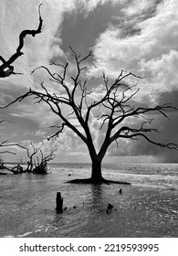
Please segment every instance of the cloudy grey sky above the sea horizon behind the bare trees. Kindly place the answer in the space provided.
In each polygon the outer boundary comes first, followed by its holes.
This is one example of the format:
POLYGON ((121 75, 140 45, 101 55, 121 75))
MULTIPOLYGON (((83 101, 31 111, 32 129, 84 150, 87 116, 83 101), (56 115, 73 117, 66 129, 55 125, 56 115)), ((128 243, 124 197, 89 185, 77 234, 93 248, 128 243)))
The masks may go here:
MULTIPOLYGON (((33 75, 31 72, 41 65, 51 69, 49 62, 52 60, 70 60, 68 46, 82 56, 89 50, 93 52, 86 74, 90 90, 102 91, 103 72, 113 80, 123 69, 145 78, 139 81, 138 104, 155 106, 167 102, 178 106, 177 0, 1 0, 0 55, 5 59, 15 53, 22 30, 37 29, 37 7, 41 3, 42 33, 26 37, 24 55, 14 62, 15 71, 23 75, 0 79, 1 106, 30 87, 39 89, 41 81, 49 90, 56 90, 45 70, 33 75)), ((178 143, 178 112, 170 112, 169 117, 170 120, 158 113, 153 115, 152 125, 159 128, 160 133, 152 133, 152 139, 178 143)), ((0 120, 6 121, 0 123, 1 141, 26 146, 30 141, 38 145, 43 142, 45 152, 55 146, 55 162, 89 161, 86 145, 68 129, 58 140, 47 141, 52 133, 49 126, 60 121, 44 104, 34 104, 32 99, 17 102, 0 110, 0 120)), ((105 131, 99 129, 94 114, 90 129, 99 147, 105 131)), ((20 148, 13 150, 16 156, 3 157, 16 160, 24 154, 20 148)), ((143 139, 134 143, 120 139, 118 147, 110 145, 106 159, 178 162, 177 156, 176 151, 162 149, 143 139)))

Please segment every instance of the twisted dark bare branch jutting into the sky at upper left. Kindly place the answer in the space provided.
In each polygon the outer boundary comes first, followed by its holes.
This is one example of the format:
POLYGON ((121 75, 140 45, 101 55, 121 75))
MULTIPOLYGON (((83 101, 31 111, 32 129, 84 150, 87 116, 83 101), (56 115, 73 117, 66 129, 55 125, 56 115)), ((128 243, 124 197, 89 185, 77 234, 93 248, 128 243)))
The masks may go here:
MULTIPOLYGON (((41 4, 42 5, 42 4, 41 4)), ((41 28, 42 28, 42 23, 43 20, 40 15, 40 6, 38 6, 38 12, 39 12, 39 25, 36 30, 30 30, 26 29, 23 30, 20 35, 19 35, 19 44, 18 47, 16 48, 16 53, 13 54, 8 60, 5 60, 2 56, 0 56, 0 60, 3 63, 0 66, 0 78, 6 78, 9 77, 10 75, 16 75, 16 74, 21 74, 21 73, 16 73, 14 71, 14 66, 12 65, 16 59, 18 59, 20 56, 22 56, 24 53, 22 52, 22 48, 24 47, 24 40, 26 35, 31 35, 32 37, 35 37, 37 34, 41 33, 41 28)))

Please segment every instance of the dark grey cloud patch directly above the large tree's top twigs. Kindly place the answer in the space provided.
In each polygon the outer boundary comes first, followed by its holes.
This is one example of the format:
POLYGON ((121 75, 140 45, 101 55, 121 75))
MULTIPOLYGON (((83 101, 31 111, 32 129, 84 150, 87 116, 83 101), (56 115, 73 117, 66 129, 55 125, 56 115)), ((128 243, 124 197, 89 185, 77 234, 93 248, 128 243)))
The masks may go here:
POLYGON ((71 46, 79 54, 86 54, 89 48, 95 45, 99 34, 104 32, 109 24, 114 22, 114 16, 120 16, 120 4, 98 5, 86 15, 85 11, 78 10, 66 14, 61 30, 62 49, 67 52, 71 46))

